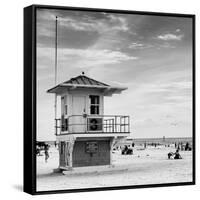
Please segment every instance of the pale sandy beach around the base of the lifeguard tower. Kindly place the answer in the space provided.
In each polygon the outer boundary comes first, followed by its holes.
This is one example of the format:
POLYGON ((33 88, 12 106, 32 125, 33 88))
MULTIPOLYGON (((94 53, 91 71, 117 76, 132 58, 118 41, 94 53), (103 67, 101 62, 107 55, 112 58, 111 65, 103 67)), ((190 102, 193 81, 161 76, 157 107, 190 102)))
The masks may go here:
POLYGON ((114 167, 106 172, 97 168, 81 173, 79 169, 80 173, 63 175, 53 173, 59 158, 58 150, 51 147, 47 163, 44 156, 37 156, 37 191, 191 182, 192 151, 180 151, 181 160, 168 160, 170 151, 175 152, 175 148, 164 145, 146 149, 137 146, 133 155, 113 151, 114 167))

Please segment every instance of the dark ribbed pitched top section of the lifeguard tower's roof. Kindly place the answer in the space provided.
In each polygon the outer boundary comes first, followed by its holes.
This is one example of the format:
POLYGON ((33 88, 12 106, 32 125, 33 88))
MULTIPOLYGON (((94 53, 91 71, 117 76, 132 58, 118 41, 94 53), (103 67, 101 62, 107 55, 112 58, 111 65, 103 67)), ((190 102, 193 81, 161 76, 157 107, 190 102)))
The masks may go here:
POLYGON ((64 84, 74 84, 74 85, 99 85, 99 86, 109 86, 100 81, 96 81, 92 78, 89 78, 85 75, 80 75, 74 78, 71 78, 68 81, 65 81, 64 84))

